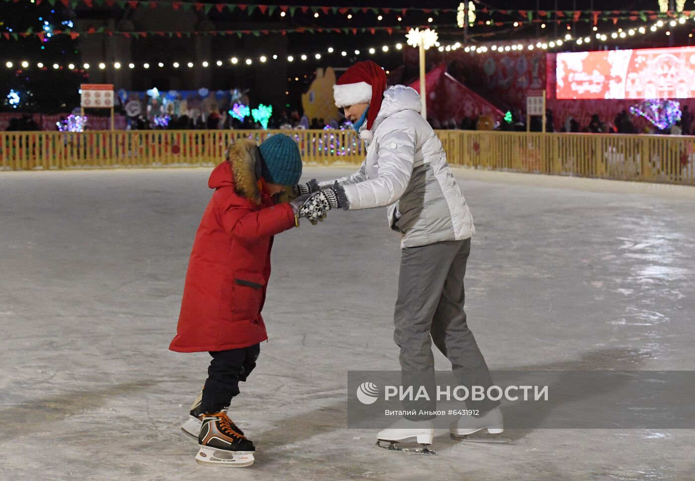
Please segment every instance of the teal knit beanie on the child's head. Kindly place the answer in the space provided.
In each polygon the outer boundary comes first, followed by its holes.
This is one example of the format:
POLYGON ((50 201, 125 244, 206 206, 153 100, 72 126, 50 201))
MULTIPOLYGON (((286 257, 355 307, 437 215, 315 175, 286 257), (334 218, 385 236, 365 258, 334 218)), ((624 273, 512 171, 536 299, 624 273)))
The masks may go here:
POLYGON ((302 157, 297 143, 285 134, 275 134, 259 145, 265 182, 295 185, 302 177, 302 157))

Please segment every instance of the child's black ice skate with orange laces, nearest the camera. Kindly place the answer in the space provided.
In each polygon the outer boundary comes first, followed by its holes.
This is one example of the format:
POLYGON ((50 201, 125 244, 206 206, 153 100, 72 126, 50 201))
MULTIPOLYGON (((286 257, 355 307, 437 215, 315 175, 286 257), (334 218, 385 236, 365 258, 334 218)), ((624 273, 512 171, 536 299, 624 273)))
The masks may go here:
POLYGON ((227 413, 206 414, 198 435, 198 454, 201 464, 243 468, 254 464, 254 443, 227 417, 227 413))

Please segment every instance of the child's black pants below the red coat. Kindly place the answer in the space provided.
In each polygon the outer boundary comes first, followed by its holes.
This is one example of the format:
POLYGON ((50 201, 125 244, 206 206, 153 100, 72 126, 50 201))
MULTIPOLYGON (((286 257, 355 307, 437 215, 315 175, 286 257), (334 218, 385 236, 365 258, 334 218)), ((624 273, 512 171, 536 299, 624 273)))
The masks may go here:
POLYGON ((208 368, 208 379, 205 381, 200 405, 204 413, 217 413, 229 407, 231 398, 239 393, 239 381, 246 381, 254 370, 260 352, 260 344, 210 352, 213 359, 208 368))

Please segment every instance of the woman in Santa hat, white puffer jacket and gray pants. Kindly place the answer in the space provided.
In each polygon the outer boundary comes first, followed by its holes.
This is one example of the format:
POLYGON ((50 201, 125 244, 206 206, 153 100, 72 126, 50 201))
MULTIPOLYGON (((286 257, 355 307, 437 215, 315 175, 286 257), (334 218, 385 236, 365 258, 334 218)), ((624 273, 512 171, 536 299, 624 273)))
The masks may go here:
MULTIPOLYGON (((386 89, 383 69, 366 61, 352 65, 341 76, 334 97, 365 141, 367 156, 349 177, 297 186, 297 194, 309 194, 300 216, 316 221, 331 208, 389 205, 389 225, 402 235, 394 340, 400 347, 404 384, 425 385, 434 402, 431 337, 451 361, 459 384, 486 389, 491 377, 464 311, 473 218, 441 142, 419 114, 420 95, 402 85, 386 89)), ((435 410, 431 403, 415 404, 405 408, 435 410)), ((450 426, 451 432, 501 432, 499 404, 466 402, 480 416, 459 419, 450 426)), ((399 441, 415 436, 419 443, 430 444, 433 418, 408 416, 379 432, 378 438, 399 441)))

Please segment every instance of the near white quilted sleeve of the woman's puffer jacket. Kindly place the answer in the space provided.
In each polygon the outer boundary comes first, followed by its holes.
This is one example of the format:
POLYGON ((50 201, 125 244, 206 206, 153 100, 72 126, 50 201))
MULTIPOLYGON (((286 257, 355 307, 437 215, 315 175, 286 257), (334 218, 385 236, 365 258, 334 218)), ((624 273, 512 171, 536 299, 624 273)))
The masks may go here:
POLYGON ((393 204, 410 183, 415 161, 415 129, 410 123, 386 122, 380 126, 387 130, 379 133, 377 177, 344 186, 350 210, 393 204))

